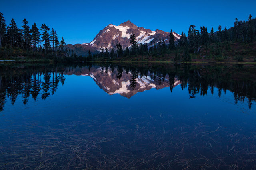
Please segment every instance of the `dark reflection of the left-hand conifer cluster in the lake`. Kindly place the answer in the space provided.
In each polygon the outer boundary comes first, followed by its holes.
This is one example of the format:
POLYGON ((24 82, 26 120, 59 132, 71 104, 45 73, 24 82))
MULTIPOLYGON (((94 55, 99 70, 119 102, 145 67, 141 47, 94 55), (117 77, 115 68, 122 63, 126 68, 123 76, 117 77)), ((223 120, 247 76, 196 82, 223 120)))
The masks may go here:
MULTIPOLYGON (((15 103, 18 95, 21 95, 23 104, 28 102, 28 98, 31 95, 34 100, 38 97, 40 90, 42 89, 42 98, 47 98, 50 93, 48 92, 51 88, 54 92, 58 87, 58 83, 62 85, 65 82, 65 77, 60 74, 55 68, 55 72, 52 73, 53 80, 51 78, 51 69, 47 68, 8 68, 0 72, 0 111, 3 110, 6 98, 8 97, 12 104, 15 103), (44 70, 44 76, 41 82, 41 70, 44 70)), ((63 69, 63 68, 61 68, 63 69)), ((63 72, 63 70, 62 70, 63 72)))

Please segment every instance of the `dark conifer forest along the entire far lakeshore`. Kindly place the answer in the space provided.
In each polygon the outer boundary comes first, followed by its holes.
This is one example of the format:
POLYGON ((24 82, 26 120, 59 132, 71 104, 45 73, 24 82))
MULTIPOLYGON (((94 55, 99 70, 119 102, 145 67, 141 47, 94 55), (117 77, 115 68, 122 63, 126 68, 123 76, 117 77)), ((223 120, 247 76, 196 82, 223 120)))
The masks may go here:
POLYGON ((53 61, 256 61, 256 19, 251 14, 248 21, 234 20, 234 27, 227 29, 218 26, 215 32, 204 26, 197 29, 189 25, 188 34, 182 32, 178 41, 174 41, 172 30, 169 43, 159 39, 148 45, 138 44, 134 33, 130 35, 131 46, 116 44, 115 49, 101 48, 94 55, 90 51, 78 56, 66 48, 64 38, 58 37, 54 28, 42 23, 22 21, 18 28, 14 19, 7 25, 0 12, 0 59, 53 60, 53 61))

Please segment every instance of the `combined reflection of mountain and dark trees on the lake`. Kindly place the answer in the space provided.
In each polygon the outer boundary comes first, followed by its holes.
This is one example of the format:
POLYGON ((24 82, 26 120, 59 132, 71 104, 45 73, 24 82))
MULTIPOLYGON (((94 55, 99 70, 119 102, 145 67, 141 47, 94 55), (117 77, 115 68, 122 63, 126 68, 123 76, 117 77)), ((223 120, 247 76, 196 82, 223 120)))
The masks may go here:
POLYGON ((152 88, 172 89, 180 85, 188 89, 188 97, 217 93, 219 97, 229 90, 235 103, 256 101, 256 67, 249 65, 191 65, 191 64, 94 64, 83 65, 1 65, 0 111, 9 98, 14 104, 17 96, 26 104, 54 95, 64 84, 65 74, 90 76, 108 94, 131 98, 138 92, 152 88), (214 87, 217 90, 214 92, 214 87))

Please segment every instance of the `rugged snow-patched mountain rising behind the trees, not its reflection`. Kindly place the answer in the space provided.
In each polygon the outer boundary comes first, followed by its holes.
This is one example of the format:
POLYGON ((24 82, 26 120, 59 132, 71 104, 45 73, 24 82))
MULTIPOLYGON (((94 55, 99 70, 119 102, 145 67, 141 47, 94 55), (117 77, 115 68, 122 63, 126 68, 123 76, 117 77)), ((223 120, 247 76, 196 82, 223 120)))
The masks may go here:
MULTIPOLYGON (((130 34, 134 33, 136 35, 137 43, 145 44, 148 43, 150 46, 151 43, 158 43, 159 39, 164 39, 166 44, 169 43, 169 32, 164 32, 162 30, 156 29, 151 31, 150 29, 145 29, 143 27, 138 27, 134 25, 131 21, 126 21, 118 26, 109 24, 104 29, 96 35, 90 43, 66 45, 66 48, 73 49, 76 54, 87 55, 88 50, 92 52, 100 51, 100 48, 103 47, 110 49, 114 48, 116 50, 116 44, 120 43, 124 48, 130 47, 129 38, 130 34)), ((173 32, 174 39, 177 41, 180 39, 180 35, 173 32)))

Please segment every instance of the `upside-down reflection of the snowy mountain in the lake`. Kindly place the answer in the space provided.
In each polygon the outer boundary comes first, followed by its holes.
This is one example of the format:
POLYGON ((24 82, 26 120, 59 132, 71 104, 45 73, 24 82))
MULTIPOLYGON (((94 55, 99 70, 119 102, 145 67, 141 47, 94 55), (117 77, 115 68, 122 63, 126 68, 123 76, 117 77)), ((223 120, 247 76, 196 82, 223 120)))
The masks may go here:
MULTIPOLYGON (((106 68, 82 68, 78 70, 72 70, 65 74, 75 74, 82 76, 90 76, 96 82, 96 84, 109 95, 120 94, 126 98, 131 98, 138 92, 144 92, 152 88, 162 89, 170 86, 169 77, 158 77, 148 72, 147 76, 140 76, 135 80, 135 86, 131 86, 132 72, 118 72, 117 69, 113 71, 106 68), (121 75, 118 77, 118 75, 121 75)), ((180 81, 175 78, 173 87, 180 84, 180 81)))

